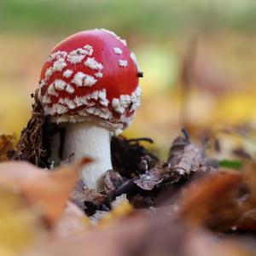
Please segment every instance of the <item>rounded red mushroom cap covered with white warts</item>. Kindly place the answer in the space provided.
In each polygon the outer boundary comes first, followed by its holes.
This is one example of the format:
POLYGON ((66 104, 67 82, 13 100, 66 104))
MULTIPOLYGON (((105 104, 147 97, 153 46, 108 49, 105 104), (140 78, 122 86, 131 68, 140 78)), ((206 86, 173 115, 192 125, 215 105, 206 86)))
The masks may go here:
POLYGON ((96 117, 124 129, 140 106, 138 73, 125 40, 104 29, 78 32, 52 50, 38 97, 54 122, 96 117))

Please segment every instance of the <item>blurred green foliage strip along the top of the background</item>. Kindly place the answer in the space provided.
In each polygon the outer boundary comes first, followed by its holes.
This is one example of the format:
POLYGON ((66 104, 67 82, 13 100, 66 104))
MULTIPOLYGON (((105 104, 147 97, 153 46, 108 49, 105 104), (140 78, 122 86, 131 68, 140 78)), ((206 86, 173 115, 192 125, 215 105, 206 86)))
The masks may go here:
POLYGON ((194 28, 253 31, 256 3, 177 0, 1 0, 1 30, 66 34, 91 27, 151 36, 194 28))

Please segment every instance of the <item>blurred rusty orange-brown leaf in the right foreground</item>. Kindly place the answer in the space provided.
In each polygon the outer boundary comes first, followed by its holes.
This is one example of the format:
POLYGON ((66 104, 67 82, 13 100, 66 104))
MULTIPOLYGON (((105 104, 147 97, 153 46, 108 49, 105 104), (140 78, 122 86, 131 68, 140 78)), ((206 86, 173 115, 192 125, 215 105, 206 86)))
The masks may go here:
POLYGON ((219 172, 192 183, 183 193, 179 214, 192 224, 229 230, 241 216, 235 201, 241 173, 219 172))

